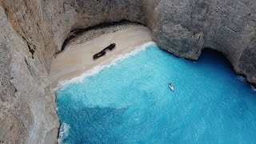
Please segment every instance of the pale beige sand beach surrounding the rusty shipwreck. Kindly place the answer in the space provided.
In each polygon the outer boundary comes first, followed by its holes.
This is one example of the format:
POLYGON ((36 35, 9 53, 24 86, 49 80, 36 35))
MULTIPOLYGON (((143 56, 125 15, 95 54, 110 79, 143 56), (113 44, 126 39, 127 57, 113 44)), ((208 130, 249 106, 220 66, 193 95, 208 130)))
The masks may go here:
MULTIPOLYGON (((102 30, 98 30, 102 33, 102 30)), ((150 30, 146 26, 130 25, 107 28, 105 34, 97 38, 86 38, 86 33, 76 38, 58 54, 50 66, 50 82, 53 88, 58 82, 70 80, 92 69, 94 66, 103 66, 112 62, 120 54, 130 53, 146 42, 152 42, 150 30), (89 39, 89 41, 88 41, 89 39), (114 50, 107 50, 106 54, 93 59, 93 55, 103 50, 110 43, 116 43, 114 50)), ((94 30, 94 34, 97 30, 94 30)), ((91 37, 92 33, 87 33, 91 37)))

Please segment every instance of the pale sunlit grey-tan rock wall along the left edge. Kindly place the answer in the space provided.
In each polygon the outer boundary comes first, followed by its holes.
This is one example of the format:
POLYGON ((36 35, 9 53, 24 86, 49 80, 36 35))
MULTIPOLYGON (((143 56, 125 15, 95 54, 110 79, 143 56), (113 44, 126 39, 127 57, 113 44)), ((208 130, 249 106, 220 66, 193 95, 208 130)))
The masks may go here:
MULTIPOLYGON (((3 7, 0 7, 0 143, 56 142, 59 124, 47 76, 49 61, 42 54, 45 47, 41 47, 43 43, 38 40, 40 35, 34 34, 36 31, 30 30, 34 35, 22 33, 26 32, 22 25, 30 25, 26 17, 24 23, 19 23, 12 19, 16 13, 6 12, 3 7)), ((17 11, 18 14, 21 13, 17 11)))

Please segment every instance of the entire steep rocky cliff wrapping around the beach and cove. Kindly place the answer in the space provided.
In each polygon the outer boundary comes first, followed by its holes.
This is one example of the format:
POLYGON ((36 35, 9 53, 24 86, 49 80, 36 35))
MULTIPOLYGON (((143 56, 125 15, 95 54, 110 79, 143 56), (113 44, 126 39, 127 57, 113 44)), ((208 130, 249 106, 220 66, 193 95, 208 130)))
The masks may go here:
POLYGON ((146 24, 162 49, 198 59, 226 55, 256 83, 254 0, 0 0, 0 143, 54 143, 50 60, 70 31, 126 19, 146 24))

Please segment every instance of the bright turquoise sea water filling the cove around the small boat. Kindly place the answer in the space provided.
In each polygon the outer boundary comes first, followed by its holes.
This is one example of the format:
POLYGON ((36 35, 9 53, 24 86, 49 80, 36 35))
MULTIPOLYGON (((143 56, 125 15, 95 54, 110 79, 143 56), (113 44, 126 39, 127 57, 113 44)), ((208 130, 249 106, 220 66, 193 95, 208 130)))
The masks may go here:
POLYGON ((212 51, 152 45, 56 94, 63 143, 256 142, 256 92, 212 51))

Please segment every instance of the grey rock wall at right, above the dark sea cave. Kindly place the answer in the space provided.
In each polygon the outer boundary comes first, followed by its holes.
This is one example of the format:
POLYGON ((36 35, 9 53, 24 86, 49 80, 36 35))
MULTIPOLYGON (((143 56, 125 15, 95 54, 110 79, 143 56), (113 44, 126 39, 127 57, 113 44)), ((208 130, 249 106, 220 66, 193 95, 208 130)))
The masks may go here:
POLYGON ((256 83, 256 2, 162 0, 154 40, 180 57, 198 59, 203 48, 222 52, 238 74, 256 83))

